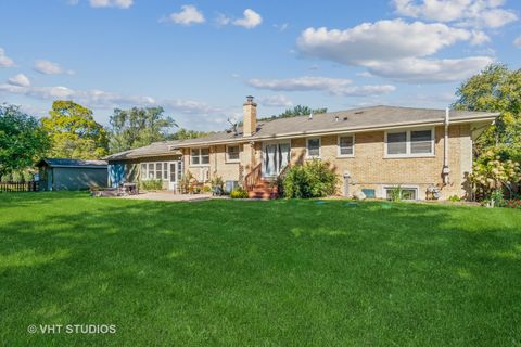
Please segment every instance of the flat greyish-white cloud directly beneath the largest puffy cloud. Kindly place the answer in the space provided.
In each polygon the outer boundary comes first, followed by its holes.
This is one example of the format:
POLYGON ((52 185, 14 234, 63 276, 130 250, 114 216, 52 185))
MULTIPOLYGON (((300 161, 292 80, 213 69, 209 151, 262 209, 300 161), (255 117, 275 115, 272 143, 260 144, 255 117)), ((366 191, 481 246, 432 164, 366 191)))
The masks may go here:
POLYGON ((372 75, 404 82, 437 83, 461 81, 493 63, 490 56, 465 59, 416 59, 408 57, 391 62, 373 62, 368 70, 372 75))

